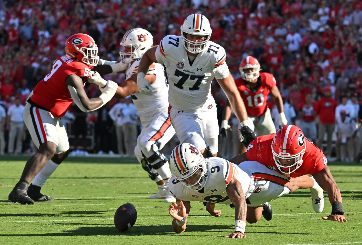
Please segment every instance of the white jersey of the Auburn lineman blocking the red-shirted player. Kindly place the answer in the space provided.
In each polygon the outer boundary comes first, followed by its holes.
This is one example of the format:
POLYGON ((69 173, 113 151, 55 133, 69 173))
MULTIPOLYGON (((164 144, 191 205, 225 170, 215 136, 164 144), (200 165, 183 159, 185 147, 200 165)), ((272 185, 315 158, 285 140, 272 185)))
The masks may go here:
MULTIPOLYGON (((141 59, 130 63, 126 69, 126 80, 138 71, 138 65, 141 59)), ((131 95, 133 104, 139 112, 141 123, 148 127, 153 119, 161 113, 168 111, 168 84, 165 77, 163 65, 153 63, 147 72, 147 75, 155 74, 156 81, 152 84, 152 92, 148 95, 136 92, 131 95)))

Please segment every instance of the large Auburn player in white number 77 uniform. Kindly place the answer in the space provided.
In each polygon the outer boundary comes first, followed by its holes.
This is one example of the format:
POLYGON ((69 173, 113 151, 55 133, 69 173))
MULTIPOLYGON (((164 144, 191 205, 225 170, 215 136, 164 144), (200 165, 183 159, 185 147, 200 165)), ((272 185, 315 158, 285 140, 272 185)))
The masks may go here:
POLYGON ((139 91, 148 94, 153 90, 145 79, 148 67, 153 62, 165 65, 170 86, 169 113, 176 135, 181 143, 192 143, 209 157, 218 152, 219 126, 210 92, 214 78, 228 97, 240 124, 251 126, 226 64, 226 51, 210 41, 211 33, 205 16, 191 14, 181 25, 181 36, 166 36, 157 47, 146 51, 137 74, 139 91))

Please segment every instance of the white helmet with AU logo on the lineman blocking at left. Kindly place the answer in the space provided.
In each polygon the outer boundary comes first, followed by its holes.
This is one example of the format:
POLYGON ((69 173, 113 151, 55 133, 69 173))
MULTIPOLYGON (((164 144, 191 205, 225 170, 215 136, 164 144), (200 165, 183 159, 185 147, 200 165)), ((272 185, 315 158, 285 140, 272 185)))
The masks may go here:
POLYGON ((130 63, 135 59, 141 58, 152 47, 153 37, 148 30, 134 28, 125 33, 119 44, 123 47, 119 55, 126 63, 130 63), (126 47, 131 47, 131 51, 125 52, 126 47))

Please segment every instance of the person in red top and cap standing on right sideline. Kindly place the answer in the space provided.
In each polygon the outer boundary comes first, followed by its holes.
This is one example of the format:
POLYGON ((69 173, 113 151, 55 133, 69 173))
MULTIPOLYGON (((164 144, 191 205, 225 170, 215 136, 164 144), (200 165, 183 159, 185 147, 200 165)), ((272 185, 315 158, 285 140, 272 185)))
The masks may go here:
POLYGON ((337 101, 332 98, 332 92, 330 88, 323 90, 324 96, 313 104, 316 114, 319 116, 319 132, 317 146, 323 149, 323 142, 325 133, 327 133, 327 158, 332 154, 332 134, 335 123, 335 111, 337 107, 337 101))

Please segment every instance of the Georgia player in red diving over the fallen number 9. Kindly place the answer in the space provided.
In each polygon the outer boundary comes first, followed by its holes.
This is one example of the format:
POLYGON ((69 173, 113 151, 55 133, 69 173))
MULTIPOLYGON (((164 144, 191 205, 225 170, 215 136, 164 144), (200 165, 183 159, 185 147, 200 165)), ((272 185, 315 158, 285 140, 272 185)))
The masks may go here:
POLYGON ((332 214, 322 217, 324 220, 347 222, 344 217, 340 189, 333 179, 327 166, 327 157, 309 141, 300 128, 295 125, 285 125, 275 134, 259 136, 247 148, 247 152, 232 158, 231 162, 258 161, 269 169, 294 178, 311 174, 316 183, 311 181, 312 206, 315 212, 323 211, 323 192, 313 190, 319 184, 327 191, 329 202, 332 204, 332 214))

